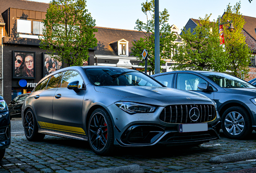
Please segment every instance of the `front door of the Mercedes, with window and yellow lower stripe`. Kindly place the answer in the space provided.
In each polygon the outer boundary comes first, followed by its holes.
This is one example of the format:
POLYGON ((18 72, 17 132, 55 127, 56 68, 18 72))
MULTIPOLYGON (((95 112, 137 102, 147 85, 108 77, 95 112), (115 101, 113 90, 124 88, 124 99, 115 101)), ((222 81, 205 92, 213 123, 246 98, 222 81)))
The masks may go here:
POLYGON ((83 130, 83 99, 86 90, 81 75, 75 70, 64 72, 60 87, 53 98, 53 123, 56 131, 85 135, 83 130), (70 82, 79 81, 76 93, 67 86, 70 82))

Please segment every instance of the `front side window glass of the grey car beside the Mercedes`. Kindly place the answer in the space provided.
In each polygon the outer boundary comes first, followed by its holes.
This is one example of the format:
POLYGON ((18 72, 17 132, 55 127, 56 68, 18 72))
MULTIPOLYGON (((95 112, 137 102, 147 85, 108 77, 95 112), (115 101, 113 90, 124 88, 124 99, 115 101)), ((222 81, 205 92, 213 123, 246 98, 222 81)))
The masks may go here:
POLYGON ((195 74, 178 73, 177 89, 190 90, 190 91, 202 91, 197 88, 197 85, 200 83, 208 83, 208 82, 195 74))

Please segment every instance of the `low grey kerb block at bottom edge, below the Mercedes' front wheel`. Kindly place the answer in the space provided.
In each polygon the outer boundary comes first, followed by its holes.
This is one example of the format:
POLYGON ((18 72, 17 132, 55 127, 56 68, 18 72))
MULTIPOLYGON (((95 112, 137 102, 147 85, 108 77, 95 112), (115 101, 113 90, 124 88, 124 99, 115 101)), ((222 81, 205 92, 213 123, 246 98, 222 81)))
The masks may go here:
MULTIPOLYGON (((76 173, 76 171, 73 171, 76 173)), ((144 173, 144 169, 139 165, 128 165, 120 167, 111 167, 103 169, 93 169, 87 171, 78 171, 79 173, 144 173)))

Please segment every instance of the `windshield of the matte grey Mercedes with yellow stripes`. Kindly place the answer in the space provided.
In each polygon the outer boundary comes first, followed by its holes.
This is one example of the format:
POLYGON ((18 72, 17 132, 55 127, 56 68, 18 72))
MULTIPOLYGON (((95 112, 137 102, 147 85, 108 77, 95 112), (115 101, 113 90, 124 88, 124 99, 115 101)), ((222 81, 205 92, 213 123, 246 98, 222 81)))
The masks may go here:
POLYGON ((85 69, 92 84, 96 86, 151 86, 162 87, 149 76, 124 68, 87 68, 85 69))

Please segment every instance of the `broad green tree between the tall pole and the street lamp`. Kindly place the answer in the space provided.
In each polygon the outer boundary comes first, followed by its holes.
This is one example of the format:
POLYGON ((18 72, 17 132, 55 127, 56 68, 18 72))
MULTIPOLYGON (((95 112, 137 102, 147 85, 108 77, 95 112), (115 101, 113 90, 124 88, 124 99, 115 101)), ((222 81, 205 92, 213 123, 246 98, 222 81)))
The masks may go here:
POLYGON ((227 68, 227 53, 219 46, 219 26, 210 22, 210 15, 199 18, 194 30, 182 30, 183 43, 173 56, 173 70, 214 70, 224 72, 227 68))

